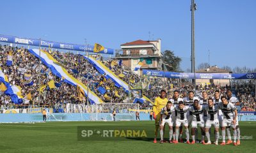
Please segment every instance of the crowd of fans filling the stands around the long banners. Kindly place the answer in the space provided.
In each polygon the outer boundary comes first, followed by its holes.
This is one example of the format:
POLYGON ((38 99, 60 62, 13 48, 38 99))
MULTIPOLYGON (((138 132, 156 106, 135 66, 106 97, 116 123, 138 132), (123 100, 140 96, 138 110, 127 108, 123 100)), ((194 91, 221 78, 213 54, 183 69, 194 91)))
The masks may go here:
MULTIPOLYGON (((77 78, 84 85, 88 85, 92 92, 95 92, 100 99, 106 103, 132 103, 134 98, 129 101, 129 95, 122 88, 115 86, 115 83, 111 79, 107 79, 103 74, 101 75, 92 64, 90 64, 83 55, 73 54, 69 52, 59 52, 58 50, 52 51, 44 49, 45 52, 54 57, 61 66, 67 69, 68 73, 77 78), (98 89, 104 87, 106 89, 105 94, 101 94, 98 89)), ((102 61, 111 71, 118 77, 122 78, 127 84, 134 87, 141 82, 147 84, 143 87, 143 92, 151 101, 159 96, 161 89, 166 89, 168 98, 172 98, 174 90, 180 91, 180 97, 187 96, 188 91, 195 90, 196 96, 201 96, 202 91, 207 91, 209 97, 213 96, 214 91, 219 90, 221 95, 225 95, 227 89, 234 89, 237 98, 240 101, 241 110, 254 111, 255 110, 255 86, 254 85, 234 85, 230 87, 228 85, 220 87, 218 85, 196 85, 195 89, 193 85, 172 85, 169 81, 163 82, 160 78, 148 78, 138 77, 135 73, 129 71, 124 67, 124 64, 120 64, 112 59, 102 60, 102 57, 95 57, 102 61)), ((82 105, 86 102, 86 98, 79 98, 76 86, 63 82, 63 78, 52 75, 51 70, 44 64, 39 64, 39 59, 30 54, 26 48, 17 47, 0 47, 0 68, 3 73, 8 77, 10 84, 19 85, 21 87, 22 95, 26 96, 31 93, 31 101, 29 104, 22 103, 16 105, 12 103, 9 96, 1 94, 0 109, 10 108, 29 108, 36 106, 48 106, 52 108, 65 108, 67 103, 82 105), (13 64, 12 66, 6 65, 8 54, 12 52, 13 64), (41 71, 40 71, 41 69, 41 71), (28 81, 25 75, 31 76, 33 85, 26 85, 28 81), (56 84, 56 88, 50 89, 46 86, 41 92, 39 92, 39 85, 47 85, 49 81, 53 80, 56 84), (40 84, 39 84, 40 81, 40 84), (58 87, 57 87, 58 86, 58 87), (40 101, 40 103, 39 103, 40 101)), ((132 97, 132 96, 131 96, 132 97)), ((85 103, 86 104, 86 103, 85 103)), ((141 104, 140 108, 149 107, 148 103, 141 104)))

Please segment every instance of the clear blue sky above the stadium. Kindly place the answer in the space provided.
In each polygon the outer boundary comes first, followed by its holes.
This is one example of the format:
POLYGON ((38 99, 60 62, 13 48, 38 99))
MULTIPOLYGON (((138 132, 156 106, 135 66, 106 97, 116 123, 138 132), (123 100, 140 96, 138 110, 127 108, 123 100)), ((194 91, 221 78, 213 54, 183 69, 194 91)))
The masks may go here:
MULTIPOLYGON (((256 1, 195 0, 195 60, 256 67, 256 1)), ((1 1, 0 34, 49 41, 100 43, 120 49, 134 40, 161 39, 161 50, 191 68, 190 0, 1 1), (150 34, 149 34, 150 32, 150 34)))

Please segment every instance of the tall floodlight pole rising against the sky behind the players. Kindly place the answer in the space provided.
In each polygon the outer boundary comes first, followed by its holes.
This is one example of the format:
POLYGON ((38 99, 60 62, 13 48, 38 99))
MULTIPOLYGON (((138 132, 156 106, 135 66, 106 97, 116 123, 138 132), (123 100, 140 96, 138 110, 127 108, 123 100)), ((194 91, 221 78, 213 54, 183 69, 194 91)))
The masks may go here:
POLYGON ((196 74, 195 74, 195 0, 191 0, 191 73, 194 73, 194 90, 196 87, 196 74))

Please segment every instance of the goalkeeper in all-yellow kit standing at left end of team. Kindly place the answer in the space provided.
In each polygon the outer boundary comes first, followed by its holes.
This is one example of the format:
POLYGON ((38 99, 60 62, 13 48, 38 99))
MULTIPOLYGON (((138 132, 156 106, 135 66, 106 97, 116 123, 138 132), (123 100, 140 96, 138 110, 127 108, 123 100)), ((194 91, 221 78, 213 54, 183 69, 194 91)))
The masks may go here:
POLYGON ((155 99, 155 103, 153 106, 153 117, 154 117, 154 120, 156 120, 155 121, 156 128, 155 128, 154 143, 157 143, 156 138, 157 138, 157 133, 158 133, 158 129, 159 129, 159 120, 161 117, 161 114, 160 114, 161 109, 164 106, 166 106, 166 103, 168 101, 168 99, 165 98, 165 96, 166 96, 166 91, 161 90, 160 96, 155 99))

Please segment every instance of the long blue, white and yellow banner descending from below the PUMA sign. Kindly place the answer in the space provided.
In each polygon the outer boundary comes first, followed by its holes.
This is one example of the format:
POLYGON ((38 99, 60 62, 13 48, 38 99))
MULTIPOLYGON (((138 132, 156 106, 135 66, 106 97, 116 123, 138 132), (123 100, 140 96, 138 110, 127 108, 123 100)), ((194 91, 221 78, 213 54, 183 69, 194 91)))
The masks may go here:
MULTIPOLYGON (((39 50, 38 49, 29 49, 28 50, 31 54, 35 55, 39 58, 39 50)), ((67 71, 67 69, 63 68, 56 59, 54 59, 51 54, 44 52, 41 50, 41 60, 47 66, 51 69, 52 74, 56 75, 57 77, 63 78, 63 81, 70 85, 79 85, 81 89, 83 89, 85 95, 87 96, 87 87, 82 82, 74 78, 72 75, 70 75, 67 71)), ((102 99, 100 99, 94 92, 92 92, 90 89, 89 91, 89 100, 90 103, 102 103, 102 99)))

